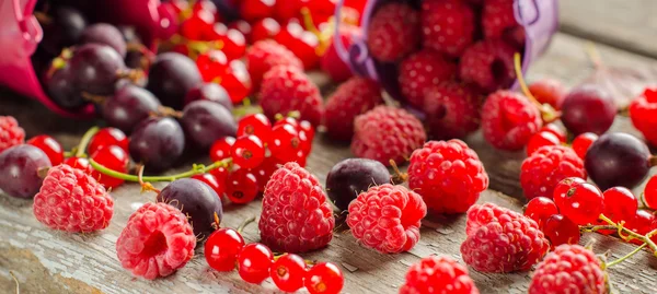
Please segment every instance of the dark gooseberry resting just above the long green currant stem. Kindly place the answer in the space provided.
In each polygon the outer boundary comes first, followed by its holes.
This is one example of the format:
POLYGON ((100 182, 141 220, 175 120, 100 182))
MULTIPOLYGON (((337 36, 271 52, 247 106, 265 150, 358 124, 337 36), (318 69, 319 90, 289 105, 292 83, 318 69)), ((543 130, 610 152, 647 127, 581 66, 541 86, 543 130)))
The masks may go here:
POLYGON ((146 169, 162 172, 183 155, 185 134, 170 117, 151 117, 141 121, 130 136, 130 156, 146 164, 146 169))

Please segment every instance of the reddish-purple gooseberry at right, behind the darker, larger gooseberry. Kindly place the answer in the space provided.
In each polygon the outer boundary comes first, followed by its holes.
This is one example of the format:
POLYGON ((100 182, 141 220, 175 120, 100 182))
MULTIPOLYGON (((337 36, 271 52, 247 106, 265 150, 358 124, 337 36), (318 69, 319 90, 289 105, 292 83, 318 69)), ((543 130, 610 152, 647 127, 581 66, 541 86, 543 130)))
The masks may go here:
POLYGON ((615 115, 616 107, 609 93, 600 86, 584 84, 564 98, 561 119, 575 136, 602 134, 611 128, 615 115))

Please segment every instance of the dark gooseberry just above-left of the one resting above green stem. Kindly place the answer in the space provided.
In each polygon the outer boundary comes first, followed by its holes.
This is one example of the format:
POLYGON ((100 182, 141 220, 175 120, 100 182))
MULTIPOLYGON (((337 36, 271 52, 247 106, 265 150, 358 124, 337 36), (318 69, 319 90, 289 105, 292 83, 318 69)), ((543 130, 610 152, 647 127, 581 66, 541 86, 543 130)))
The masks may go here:
POLYGON ((102 113, 110 126, 130 133, 159 107, 160 102, 148 90, 127 84, 105 101, 102 113))

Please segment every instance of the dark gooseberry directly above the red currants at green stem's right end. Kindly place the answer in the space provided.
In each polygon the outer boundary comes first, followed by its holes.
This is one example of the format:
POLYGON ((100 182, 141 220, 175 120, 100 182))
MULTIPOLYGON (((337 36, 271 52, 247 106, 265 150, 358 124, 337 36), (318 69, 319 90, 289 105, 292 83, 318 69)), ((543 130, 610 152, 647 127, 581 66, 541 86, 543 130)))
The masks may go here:
POLYGON ((209 101, 195 101, 185 106, 181 122, 187 139, 204 150, 223 137, 235 137, 238 132, 231 111, 209 101))

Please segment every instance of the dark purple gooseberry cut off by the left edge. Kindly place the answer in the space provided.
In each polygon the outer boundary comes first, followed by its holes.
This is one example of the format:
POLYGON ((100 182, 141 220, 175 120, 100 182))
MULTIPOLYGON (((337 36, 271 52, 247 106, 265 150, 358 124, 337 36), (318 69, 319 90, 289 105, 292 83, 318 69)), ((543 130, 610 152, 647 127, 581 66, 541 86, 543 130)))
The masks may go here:
POLYGON ((43 184, 41 168, 53 167, 48 155, 33 145, 16 145, 0 153, 0 190, 19 198, 32 198, 43 184))

